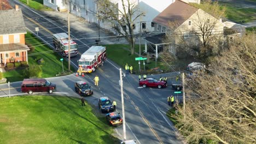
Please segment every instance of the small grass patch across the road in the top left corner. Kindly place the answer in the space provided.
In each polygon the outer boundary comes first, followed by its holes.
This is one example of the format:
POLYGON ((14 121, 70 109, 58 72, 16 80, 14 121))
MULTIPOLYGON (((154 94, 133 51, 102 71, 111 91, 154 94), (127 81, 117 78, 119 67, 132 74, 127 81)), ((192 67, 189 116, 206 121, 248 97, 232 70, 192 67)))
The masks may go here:
MULTIPOLYGON (((27 4, 27 0, 20 0, 22 3, 27 4)), ((43 0, 28 0, 28 7, 36 10, 53 10, 44 5, 43 0)))

